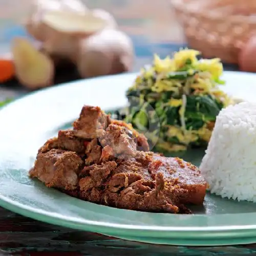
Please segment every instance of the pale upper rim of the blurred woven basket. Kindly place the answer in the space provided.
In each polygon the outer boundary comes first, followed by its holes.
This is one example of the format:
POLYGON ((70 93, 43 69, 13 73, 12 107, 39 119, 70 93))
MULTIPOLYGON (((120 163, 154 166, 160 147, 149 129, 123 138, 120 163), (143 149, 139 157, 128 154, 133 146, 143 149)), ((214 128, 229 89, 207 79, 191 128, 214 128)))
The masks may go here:
MULTIPOLYGON (((170 0, 170 4, 182 13, 193 14, 198 17, 202 17, 204 19, 212 19, 220 22, 221 20, 226 20, 227 16, 223 14, 217 14, 216 12, 213 13, 211 11, 205 12, 202 10, 190 10, 186 4, 184 4, 184 0, 170 0)), ((251 18, 250 16, 245 15, 228 15, 228 22, 233 23, 247 23, 248 25, 256 25, 256 18, 251 18)))

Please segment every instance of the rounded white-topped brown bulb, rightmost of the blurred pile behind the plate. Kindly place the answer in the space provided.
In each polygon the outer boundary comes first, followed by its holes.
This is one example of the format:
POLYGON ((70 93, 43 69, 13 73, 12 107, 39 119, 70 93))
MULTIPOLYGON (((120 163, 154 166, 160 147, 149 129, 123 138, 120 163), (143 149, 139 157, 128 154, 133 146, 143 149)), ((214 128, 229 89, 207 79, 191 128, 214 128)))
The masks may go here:
POLYGON ((133 43, 125 33, 104 29, 80 41, 77 67, 81 77, 116 74, 132 69, 133 43))

